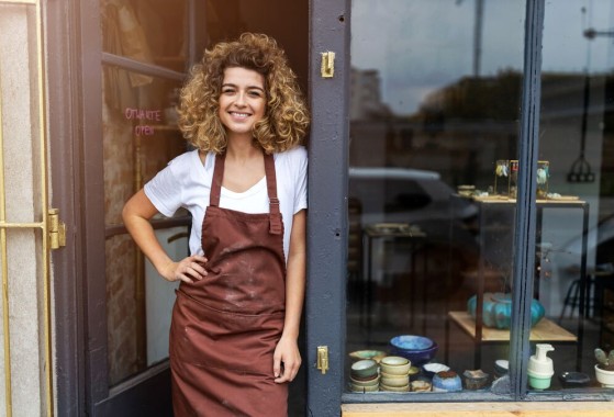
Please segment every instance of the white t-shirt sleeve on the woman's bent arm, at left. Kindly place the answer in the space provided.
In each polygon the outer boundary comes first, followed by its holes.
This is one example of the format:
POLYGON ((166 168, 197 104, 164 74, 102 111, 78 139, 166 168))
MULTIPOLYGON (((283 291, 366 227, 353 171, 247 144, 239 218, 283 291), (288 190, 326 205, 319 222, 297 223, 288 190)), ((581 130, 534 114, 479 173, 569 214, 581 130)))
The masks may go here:
POLYGON ((177 160, 172 160, 168 166, 159 171, 143 190, 152 204, 167 217, 171 217, 181 206, 181 182, 175 172, 177 160))

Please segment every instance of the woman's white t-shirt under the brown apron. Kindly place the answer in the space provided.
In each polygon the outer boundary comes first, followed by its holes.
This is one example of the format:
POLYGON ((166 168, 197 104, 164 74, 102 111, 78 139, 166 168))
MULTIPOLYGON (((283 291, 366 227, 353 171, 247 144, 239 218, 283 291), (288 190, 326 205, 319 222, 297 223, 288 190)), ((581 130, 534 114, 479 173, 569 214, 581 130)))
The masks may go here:
MULTIPOLYGON (((293 215, 306 208, 306 150, 302 146, 295 147, 275 154, 273 159, 277 196, 283 218, 283 252, 288 261, 293 215)), ((192 214, 190 234, 190 252, 192 255, 202 255, 202 219, 209 205, 214 166, 214 154, 206 155, 203 166, 198 150, 191 150, 172 159, 144 187, 145 195, 165 216, 172 216, 179 207, 185 207, 192 214)), ((222 187, 220 206, 244 213, 268 213, 269 199, 266 178, 242 193, 222 187)))

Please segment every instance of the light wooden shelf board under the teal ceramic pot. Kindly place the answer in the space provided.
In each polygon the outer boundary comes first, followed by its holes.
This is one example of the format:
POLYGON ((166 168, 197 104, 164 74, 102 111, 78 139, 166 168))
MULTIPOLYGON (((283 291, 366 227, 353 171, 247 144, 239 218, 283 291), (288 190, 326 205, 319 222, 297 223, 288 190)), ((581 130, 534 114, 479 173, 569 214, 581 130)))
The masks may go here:
MULTIPOLYGON (((467 312, 449 312, 449 317, 472 338, 476 337, 476 320, 467 312)), ((544 317, 531 329, 532 341, 577 342, 578 337, 552 320, 544 317)), ((482 341, 510 341, 510 330, 482 327, 482 341)))

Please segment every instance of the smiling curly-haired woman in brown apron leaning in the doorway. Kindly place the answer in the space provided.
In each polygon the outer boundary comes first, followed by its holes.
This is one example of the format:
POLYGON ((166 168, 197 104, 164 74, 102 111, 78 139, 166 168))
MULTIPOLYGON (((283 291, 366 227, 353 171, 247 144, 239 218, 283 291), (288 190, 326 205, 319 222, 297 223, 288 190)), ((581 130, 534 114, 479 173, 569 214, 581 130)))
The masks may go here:
POLYGON ((125 225, 169 281, 176 416, 286 416, 305 281, 309 113, 276 42, 243 34, 205 50, 181 91, 196 148, 125 205, 125 225), (149 218, 192 214, 191 256, 174 260, 149 218))

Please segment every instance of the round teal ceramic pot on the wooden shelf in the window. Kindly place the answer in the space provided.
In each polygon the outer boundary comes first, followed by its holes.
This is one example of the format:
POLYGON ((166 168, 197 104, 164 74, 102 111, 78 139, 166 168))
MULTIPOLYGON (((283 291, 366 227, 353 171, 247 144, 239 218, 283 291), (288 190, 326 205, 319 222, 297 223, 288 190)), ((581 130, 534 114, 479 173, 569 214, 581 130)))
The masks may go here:
MULTIPOLYGON (((467 311, 476 318, 477 295, 467 302, 467 311)), ((537 300, 531 302, 531 326, 535 326, 546 314, 546 309, 537 300)), ((512 324, 512 294, 484 293, 482 323, 487 327, 509 329, 512 324)))

